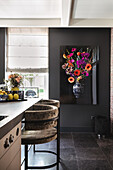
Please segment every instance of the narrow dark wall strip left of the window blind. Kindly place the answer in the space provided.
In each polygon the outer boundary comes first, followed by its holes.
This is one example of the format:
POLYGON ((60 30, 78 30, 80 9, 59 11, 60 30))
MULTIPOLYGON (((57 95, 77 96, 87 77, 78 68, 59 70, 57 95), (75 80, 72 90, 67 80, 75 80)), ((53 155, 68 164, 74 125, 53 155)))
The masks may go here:
POLYGON ((0 84, 5 78, 5 28, 0 28, 0 84))

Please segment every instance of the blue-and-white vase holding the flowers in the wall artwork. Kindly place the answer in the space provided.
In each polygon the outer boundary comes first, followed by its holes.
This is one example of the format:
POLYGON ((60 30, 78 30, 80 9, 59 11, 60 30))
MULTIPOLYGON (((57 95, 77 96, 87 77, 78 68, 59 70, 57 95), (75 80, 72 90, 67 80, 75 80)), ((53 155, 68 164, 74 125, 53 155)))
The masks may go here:
POLYGON ((79 98, 81 94, 84 92, 84 84, 76 81, 73 85, 73 93, 75 95, 75 98, 79 98))

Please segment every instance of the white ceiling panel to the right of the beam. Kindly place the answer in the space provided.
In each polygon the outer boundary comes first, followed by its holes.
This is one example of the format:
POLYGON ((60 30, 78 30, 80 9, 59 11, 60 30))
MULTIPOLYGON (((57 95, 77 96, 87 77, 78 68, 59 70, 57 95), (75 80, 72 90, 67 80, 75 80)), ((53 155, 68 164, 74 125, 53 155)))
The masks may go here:
POLYGON ((75 0, 73 18, 113 19, 113 0, 75 0))

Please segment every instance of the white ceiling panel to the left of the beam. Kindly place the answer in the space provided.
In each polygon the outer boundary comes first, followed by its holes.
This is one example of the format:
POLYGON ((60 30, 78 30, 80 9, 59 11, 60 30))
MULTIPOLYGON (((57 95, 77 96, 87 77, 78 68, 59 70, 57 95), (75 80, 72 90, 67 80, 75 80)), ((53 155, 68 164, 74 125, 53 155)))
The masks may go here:
POLYGON ((0 18, 60 18, 61 0, 0 0, 0 18))

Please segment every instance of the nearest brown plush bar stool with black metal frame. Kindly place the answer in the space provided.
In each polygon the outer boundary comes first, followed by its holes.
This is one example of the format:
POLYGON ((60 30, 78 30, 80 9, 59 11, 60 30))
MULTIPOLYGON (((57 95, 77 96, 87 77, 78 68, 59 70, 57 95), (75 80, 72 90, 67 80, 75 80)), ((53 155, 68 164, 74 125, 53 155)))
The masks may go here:
POLYGON ((33 110, 25 111, 25 129, 22 131, 22 144, 25 145, 25 170, 47 169, 57 165, 59 169, 59 112, 56 106, 36 104, 33 110), (28 166, 28 145, 43 144, 57 139, 57 152, 39 150, 57 155, 57 161, 46 166, 28 166))

